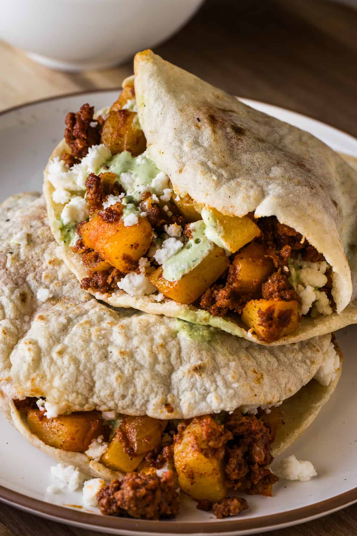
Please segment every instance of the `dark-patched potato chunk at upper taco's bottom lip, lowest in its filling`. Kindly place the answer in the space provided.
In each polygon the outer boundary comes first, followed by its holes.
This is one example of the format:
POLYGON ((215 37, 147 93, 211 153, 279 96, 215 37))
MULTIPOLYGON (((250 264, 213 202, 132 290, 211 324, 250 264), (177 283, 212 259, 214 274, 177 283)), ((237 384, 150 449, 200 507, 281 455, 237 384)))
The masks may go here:
POLYGON ((297 301, 250 300, 242 312, 242 321, 258 337, 273 343, 298 329, 297 301))

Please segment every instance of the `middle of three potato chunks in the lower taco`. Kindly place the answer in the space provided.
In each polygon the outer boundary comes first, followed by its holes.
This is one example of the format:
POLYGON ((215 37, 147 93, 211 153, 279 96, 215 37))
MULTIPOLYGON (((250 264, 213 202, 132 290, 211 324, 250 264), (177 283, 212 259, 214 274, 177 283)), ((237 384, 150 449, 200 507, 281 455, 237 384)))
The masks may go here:
POLYGON ((138 417, 126 415, 103 454, 101 462, 116 471, 124 473, 134 471, 145 454, 159 444, 166 424, 167 421, 152 419, 146 415, 138 417), (126 446, 133 449, 133 456, 125 452, 121 441, 122 434, 126 437, 126 446))

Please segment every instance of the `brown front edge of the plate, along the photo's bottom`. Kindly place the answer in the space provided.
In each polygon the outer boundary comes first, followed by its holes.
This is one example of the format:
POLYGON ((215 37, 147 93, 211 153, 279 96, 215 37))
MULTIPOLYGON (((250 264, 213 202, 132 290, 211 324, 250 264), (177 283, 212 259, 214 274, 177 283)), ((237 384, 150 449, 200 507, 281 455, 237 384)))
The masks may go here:
MULTIPOLYGON (((269 500, 269 499, 267 499, 269 500)), ((4 486, 0 486, 0 501, 13 507, 27 510, 40 515, 50 517, 60 523, 81 525, 84 528, 98 528, 118 531, 131 531, 133 533, 171 533, 171 534, 194 534, 194 533, 227 533, 241 534, 253 530, 270 530, 282 526, 303 523, 312 518, 321 517, 333 511, 347 507, 357 502, 357 487, 347 492, 336 495, 324 501, 297 508, 282 513, 274 513, 268 516, 255 518, 226 519, 219 522, 174 522, 149 521, 132 518, 118 518, 101 516, 95 513, 71 510, 51 504, 39 499, 28 497, 4 486)))

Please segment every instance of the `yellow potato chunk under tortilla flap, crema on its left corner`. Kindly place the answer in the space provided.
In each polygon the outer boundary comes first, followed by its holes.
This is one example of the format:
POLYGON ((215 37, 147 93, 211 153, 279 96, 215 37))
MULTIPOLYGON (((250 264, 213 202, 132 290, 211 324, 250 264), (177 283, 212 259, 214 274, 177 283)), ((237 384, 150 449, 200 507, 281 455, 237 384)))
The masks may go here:
POLYGON ((206 225, 210 224, 210 220, 214 221, 219 238, 232 253, 260 235, 259 227, 248 216, 242 218, 224 216, 218 210, 209 207, 202 211, 202 218, 206 225))

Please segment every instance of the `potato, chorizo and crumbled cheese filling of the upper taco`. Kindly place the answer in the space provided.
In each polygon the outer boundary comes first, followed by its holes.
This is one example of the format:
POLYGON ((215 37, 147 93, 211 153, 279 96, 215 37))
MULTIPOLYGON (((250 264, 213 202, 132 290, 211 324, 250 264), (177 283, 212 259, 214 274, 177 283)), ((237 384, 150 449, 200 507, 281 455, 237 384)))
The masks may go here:
POLYGON ((274 216, 227 216, 176 195, 147 155, 133 77, 123 88, 96 118, 88 104, 67 114, 70 152, 48 168, 61 239, 88 272, 82 288, 192 304, 268 343, 303 315, 336 311, 331 266, 305 236, 274 216))

